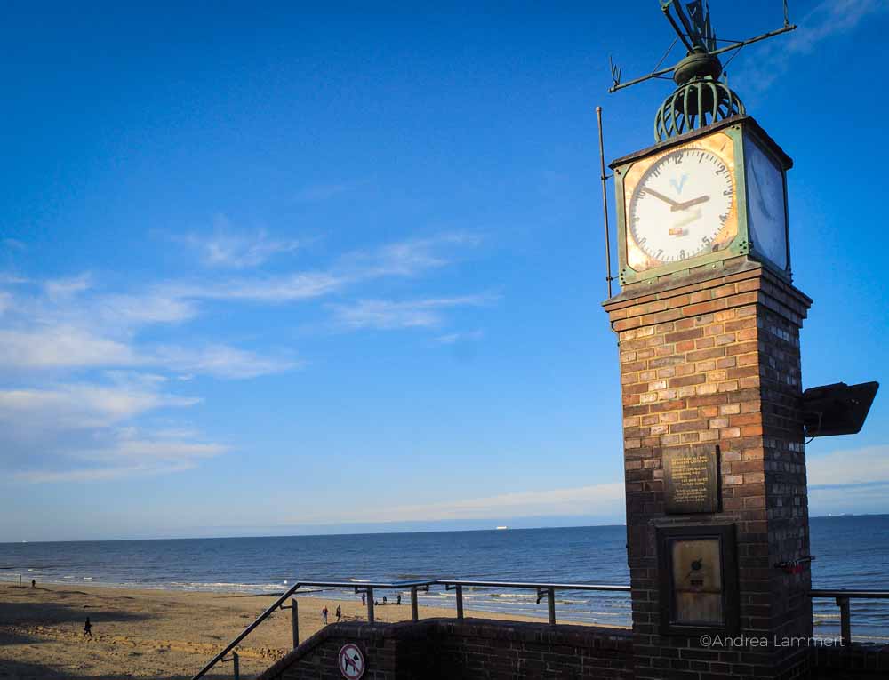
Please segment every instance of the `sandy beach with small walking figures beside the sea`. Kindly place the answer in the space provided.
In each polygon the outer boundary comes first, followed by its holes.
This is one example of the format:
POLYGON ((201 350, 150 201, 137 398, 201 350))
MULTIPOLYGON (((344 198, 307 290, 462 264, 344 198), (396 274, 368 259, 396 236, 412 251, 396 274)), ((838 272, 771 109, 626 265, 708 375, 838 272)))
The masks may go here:
MULTIPOLYGON (((77 585, 0 585, 0 678, 190 678, 263 612, 275 596, 136 590, 77 585), (92 639, 84 639, 84 620, 92 639)), ((345 620, 365 620, 360 598, 299 598, 300 639, 330 621, 339 604, 345 620)), ((467 612, 472 615, 472 612, 467 612)), ((533 620, 491 612, 486 619, 533 620)), ((453 609, 420 607, 420 617, 453 617, 453 609)), ((376 608, 378 621, 409 620, 411 607, 376 608)), ((291 649, 291 614, 276 612, 239 648, 242 677, 252 677, 291 649)), ((211 677, 232 677, 231 664, 211 677)))

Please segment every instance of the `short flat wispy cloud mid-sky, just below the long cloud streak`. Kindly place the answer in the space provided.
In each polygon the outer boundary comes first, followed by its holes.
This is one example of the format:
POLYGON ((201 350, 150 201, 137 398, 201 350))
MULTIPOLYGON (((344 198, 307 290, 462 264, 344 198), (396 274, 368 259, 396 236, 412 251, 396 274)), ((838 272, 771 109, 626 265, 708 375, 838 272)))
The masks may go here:
POLYGON ((402 328, 432 328, 443 323, 446 308, 478 307, 490 303, 491 295, 464 295, 428 300, 358 300, 348 305, 332 305, 333 317, 342 327, 392 331, 402 328))

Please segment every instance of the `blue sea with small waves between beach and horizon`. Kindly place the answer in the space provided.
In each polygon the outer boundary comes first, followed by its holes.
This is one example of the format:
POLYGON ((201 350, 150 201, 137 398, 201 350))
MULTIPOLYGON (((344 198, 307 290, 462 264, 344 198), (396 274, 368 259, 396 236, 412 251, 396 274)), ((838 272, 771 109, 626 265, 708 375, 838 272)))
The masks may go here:
MULTIPOLYGON (((889 590, 889 515, 814 517, 813 588, 889 590)), ((626 527, 372 533, 257 538, 0 543, 0 580, 224 593, 283 593, 298 580, 420 579, 629 584, 626 527)), ((354 588, 300 596, 358 598, 354 588)), ((407 600, 409 593, 402 591, 407 600)), ((377 592, 389 601, 397 591, 377 592)), ((520 589, 466 588, 467 609, 546 617, 546 599, 520 589)), ((455 606, 453 590, 420 607, 455 606)), ((815 635, 836 635, 832 599, 813 602, 815 635)), ((558 620, 629 626, 629 596, 557 591, 558 620)), ((853 638, 889 641, 889 600, 853 600, 853 638)))

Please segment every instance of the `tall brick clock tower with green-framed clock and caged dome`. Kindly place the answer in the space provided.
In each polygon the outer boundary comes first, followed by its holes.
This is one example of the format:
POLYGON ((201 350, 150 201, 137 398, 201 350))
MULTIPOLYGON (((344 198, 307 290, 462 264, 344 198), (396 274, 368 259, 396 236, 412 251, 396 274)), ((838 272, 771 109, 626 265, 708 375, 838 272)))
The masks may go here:
POLYGON ((792 161, 718 71, 690 51, 611 164, 637 680, 805 677, 813 629, 792 161))

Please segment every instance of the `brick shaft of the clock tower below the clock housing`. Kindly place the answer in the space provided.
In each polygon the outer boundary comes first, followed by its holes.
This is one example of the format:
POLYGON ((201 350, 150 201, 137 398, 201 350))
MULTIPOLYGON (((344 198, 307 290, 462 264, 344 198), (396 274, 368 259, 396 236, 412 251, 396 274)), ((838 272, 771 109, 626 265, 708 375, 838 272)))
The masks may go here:
POLYGON ((627 532, 637 677, 794 677, 800 650, 702 649, 661 636, 654 540, 663 524, 733 523, 741 630, 810 636, 806 569, 773 564, 809 554, 799 412, 799 330, 811 304, 746 258, 701 268, 680 283, 628 286, 605 303, 620 348, 627 532), (661 456, 720 455, 722 509, 666 516, 661 456))

